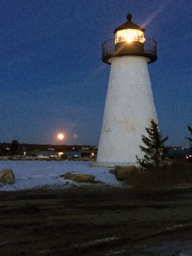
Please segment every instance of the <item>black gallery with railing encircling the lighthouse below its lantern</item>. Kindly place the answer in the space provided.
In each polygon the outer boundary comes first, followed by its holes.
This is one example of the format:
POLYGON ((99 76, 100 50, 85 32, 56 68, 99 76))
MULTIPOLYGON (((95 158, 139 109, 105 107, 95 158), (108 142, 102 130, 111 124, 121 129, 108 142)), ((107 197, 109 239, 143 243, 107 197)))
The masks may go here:
MULTIPOLYGON (((127 44, 127 47, 131 47, 131 44, 127 44)), ((134 55, 134 52, 132 51, 134 55)), ((102 44, 102 60, 108 63, 109 58, 115 56, 132 55, 132 54, 116 54, 115 52, 115 38, 109 39, 102 44)), ((141 52, 136 52, 135 55, 145 56, 150 59, 150 62, 157 60, 157 43, 152 38, 145 38, 143 43, 143 49, 141 52)))

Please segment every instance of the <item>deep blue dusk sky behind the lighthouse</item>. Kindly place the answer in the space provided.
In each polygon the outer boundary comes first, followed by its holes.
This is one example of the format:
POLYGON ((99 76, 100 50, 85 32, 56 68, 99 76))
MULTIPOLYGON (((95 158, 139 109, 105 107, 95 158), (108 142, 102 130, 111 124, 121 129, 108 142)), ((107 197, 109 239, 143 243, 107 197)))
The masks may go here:
POLYGON ((166 145, 188 147, 191 0, 1 0, 0 142, 98 145, 110 66, 102 42, 127 19, 157 41, 148 65, 166 145))

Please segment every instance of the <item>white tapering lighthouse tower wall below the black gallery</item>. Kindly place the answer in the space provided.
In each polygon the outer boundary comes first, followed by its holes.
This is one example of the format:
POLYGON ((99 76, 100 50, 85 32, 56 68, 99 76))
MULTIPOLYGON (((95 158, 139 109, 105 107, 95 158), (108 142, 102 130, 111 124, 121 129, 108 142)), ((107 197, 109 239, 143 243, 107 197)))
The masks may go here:
POLYGON ((97 161, 94 166, 136 165, 141 158, 141 134, 156 108, 148 74, 147 58, 124 56, 111 59, 108 93, 104 109, 97 161))

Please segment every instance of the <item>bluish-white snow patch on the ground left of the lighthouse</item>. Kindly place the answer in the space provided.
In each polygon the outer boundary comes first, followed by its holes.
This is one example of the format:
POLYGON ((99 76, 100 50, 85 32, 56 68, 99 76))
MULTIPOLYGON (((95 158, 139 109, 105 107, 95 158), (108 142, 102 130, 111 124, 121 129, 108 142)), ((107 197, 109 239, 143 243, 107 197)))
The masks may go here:
POLYGON ((0 170, 11 168, 15 175, 15 184, 2 185, 0 191, 15 191, 23 189, 51 186, 51 188, 67 188, 70 184, 82 185, 72 180, 60 177, 66 172, 93 174, 95 180, 113 186, 122 186, 115 175, 108 172, 109 168, 90 167, 83 161, 0 161, 0 170))

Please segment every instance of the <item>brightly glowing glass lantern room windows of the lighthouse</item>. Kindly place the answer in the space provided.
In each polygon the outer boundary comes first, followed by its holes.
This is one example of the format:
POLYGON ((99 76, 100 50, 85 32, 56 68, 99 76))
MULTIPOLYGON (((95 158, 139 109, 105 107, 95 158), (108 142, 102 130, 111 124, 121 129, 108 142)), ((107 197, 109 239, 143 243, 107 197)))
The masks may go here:
POLYGON ((145 42, 143 31, 137 29, 122 29, 115 34, 115 44, 120 42, 131 43, 132 41, 145 42))

